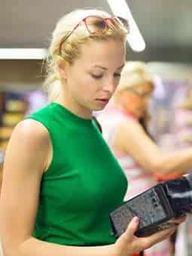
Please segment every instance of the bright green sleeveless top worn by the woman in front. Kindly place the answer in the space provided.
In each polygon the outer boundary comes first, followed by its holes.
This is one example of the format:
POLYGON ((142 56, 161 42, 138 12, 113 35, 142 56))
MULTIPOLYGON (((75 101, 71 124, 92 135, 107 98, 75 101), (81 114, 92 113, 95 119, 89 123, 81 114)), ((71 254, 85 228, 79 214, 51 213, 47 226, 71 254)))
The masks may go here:
POLYGON ((53 147, 33 236, 61 245, 113 243, 109 213, 123 203, 127 181, 96 123, 59 103, 27 118, 47 128, 53 147))

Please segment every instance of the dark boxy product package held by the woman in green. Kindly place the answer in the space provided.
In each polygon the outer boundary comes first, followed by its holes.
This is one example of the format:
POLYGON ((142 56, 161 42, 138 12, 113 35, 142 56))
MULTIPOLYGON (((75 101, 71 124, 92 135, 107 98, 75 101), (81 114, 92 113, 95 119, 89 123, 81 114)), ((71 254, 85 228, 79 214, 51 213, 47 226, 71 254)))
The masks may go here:
POLYGON ((169 227, 169 221, 192 211, 192 174, 157 184, 126 201, 111 212, 114 236, 125 232, 135 216, 139 217, 136 236, 149 236, 169 227))

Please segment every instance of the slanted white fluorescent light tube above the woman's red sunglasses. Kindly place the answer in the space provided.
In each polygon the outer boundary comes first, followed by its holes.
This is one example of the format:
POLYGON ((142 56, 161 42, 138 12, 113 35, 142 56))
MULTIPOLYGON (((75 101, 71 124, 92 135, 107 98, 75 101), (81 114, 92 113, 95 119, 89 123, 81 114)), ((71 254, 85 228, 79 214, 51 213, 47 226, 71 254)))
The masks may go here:
POLYGON ((120 16, 129 21, 130 33, 127 35, 127 41, 133 51, 144 51, 145 41, 136 25, 135 20, 131 14, 129 6, 126 4, 125 0, 107 0, 112 12, 115 16, 120 16))

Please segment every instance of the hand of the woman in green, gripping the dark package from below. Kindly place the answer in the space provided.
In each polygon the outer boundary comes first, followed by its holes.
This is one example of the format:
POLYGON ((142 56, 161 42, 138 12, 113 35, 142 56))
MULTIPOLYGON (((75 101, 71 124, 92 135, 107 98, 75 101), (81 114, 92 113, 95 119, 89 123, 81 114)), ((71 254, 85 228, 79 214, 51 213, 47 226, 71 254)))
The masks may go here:
POLYGON ((114 250, 117 256, 130 256, 134 253, 145 250, 151 247, 157 242, 161 242, 167 239, 172 233, 175 232, 178 224, 185 221, 186 217, 175 219, 172 221, 172 227, 169 229, 159 231, 151 236, 147 237, 137 237, 134 235, 139 225, 139 218, 133 217, 132 221, 128 225, 126 232, 123 233, 119 239, 114 243, 114 250))

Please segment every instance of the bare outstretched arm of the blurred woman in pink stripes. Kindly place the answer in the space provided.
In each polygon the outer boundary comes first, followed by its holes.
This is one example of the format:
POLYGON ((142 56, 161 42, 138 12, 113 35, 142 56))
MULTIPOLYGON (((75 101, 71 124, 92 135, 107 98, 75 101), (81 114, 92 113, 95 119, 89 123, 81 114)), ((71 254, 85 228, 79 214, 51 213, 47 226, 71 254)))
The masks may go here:
POLYGON ((192 167, 192 148, 177 153, 163 153, 134 120, 123 122, 120 126, 114 147, 133 156, 136 162, 154 174, 172 174, 192 167))

